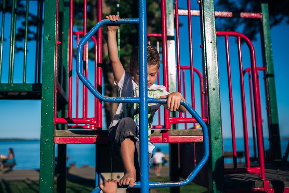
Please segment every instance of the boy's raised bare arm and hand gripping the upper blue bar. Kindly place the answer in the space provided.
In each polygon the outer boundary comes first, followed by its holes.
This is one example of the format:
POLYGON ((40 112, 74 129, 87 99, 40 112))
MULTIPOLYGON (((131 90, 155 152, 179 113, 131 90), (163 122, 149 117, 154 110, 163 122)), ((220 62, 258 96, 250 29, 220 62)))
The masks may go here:
MULTIPOLYGON (((115 22, 119 19, 118 15, 106 16, 111 22, 115 22)), ((118 84, 124 73, 124 68, 121 61, 118 58, 118 48, 117 48, 117 29, 119 25, 107 25, 107 48, 109 60, 111 62, 111 68, 113 71, 114 81, 118 84)))

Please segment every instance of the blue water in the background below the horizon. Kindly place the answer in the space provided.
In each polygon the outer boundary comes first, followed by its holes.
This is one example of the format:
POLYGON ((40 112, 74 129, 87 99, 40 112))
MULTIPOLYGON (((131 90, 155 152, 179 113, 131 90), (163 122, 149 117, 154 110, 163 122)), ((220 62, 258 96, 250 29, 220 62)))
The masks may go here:
MULTIPOLYGON (((232 151, 232 139, 224 139, 224 151, 232 151)), ((236 139, 237 151, 243 151, 243 139, 236 139)), ((288 140, 281 140, 282 156, 288 145, 288 140)), ((168 154, 168 144, 155 144, 162 152, 168 154)), ((249 139, 250 156, 253 156, 253 140, 249 139)), ((13 148, 17 165, 15 169, 39 169, 40 141, 0 141, 0 154, 8 154, 8 148, 13 148)), ((156 148, 153 152, 156 151, 156 148)), ((264 138, 264 148, 269 149, 269 142, 264 138)), ((57 152, 57 145, 55 145, 57 152)), ((68 144, 67 145, 67 165, 76 164, 77 167, 89 165, 95 167, 95 144, 68 144)), ((244 159, 243 159, 244 161, 244 159)), ((232 163, 232 159, 225 159, 225 163, 232 163)))

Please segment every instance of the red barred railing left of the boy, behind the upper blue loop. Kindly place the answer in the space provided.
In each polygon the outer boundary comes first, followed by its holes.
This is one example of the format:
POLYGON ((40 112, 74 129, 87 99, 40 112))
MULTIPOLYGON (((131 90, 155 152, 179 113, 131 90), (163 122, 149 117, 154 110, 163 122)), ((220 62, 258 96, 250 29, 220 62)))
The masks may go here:
MULTIPOLYGON (((98 6, 101 6, 101 1, 98 0, 98 6)), ((82 85, 82 93, 79 79, 77 74, 73 77, 73 47, 76 48, 80 38, 86 34, 86 7, 87 1, 84 1, 84 19, 83 19, 83 31, 81 32, 73 32, 73 1, 70 1, 70 15, 69 15, 69 61, 68 61, 68 115, 66 118, 58 118, 56 117, 55 123, 61 124, 69 124, 68 128, 86 128, 86 129, 101 129, 102 128, 102 103, 98 99, 94 99, 94 117, 88 117, 88 89, 85 85, 82 85), (76 37, 76 45, 73 45, 74 37, 76 37), (73 87, 73 80, 76 81, 76 86, 73 87), (74 89, 75 88, 75 89, 74 89), (74 90, 73 90, 74 89, 74 90), (82 97, 82 103, 80 104, 80 94, 82 97), (73 101, 73 95, 76 97, 76 100, 73 101), (73 111, 73 103, 75 103, 75 111, 73 111), (79 116, 79 106, 82 106, 82 117, 79 116), (75 115, 73 116, 73 113, 75 115)), ((101 8, 101 7, 99 7, 101 8)), ((101 9, 100 9, 101 10, 101 9)), ((97 13, 98 21, 101 20, 102 11, 97 13)), ((92 37, 92 41, 94 43, 94 54, 95 54, 95 69, 94 76, 97 90, 102 93, 102 32, 101 29, 97 32, 97 37, 92 37)), ((83 51, 83 73, 85 77, 88 79, 88 43, 84 47, 83 51)))

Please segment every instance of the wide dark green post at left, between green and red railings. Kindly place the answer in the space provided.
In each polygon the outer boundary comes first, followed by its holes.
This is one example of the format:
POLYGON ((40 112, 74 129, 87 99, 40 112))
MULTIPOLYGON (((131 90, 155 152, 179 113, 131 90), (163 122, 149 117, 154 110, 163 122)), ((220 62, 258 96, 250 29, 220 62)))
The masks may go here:
POLYGON ((39 192, 54 192, 54 99, 57 0, 44 10, 39 192))

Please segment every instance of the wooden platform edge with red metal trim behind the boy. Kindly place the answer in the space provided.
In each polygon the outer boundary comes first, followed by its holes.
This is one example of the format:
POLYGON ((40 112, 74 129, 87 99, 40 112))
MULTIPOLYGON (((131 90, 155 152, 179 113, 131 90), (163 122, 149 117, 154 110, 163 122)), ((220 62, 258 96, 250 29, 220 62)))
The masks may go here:
MULTIPOLYGON (((106 144, 107 130, 55 130, 55 144, 106 144)), ((152 130, 152 143, 202 142, 201 129, 152 130)))

